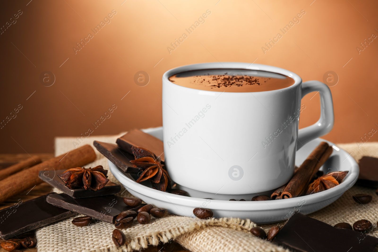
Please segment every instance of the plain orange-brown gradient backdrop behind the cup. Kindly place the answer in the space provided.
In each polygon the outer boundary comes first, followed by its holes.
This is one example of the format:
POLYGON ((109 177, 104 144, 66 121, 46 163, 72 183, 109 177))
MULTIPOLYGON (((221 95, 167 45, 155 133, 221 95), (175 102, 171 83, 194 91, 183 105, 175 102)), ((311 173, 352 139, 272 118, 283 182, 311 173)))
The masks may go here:
MULTIPOLYGON (((378 129, 378 39, 360 54, 356 49, 378 35, 377 7, 357 0, 2 2, 0 27, 19 10, 22 15, 0 35, 0 121, 19 104, 22 110, 0 129, 0 152, 53 152, 54 136, 84 134, 113 104, 116 110, 91 135, 160 126, 163 73, 217 61, 278 66, 304 81, 322 81, 334 71, 335 127, 324 138, 359 142, 378 129), (91 29, 113 9, 111 23, 75 54, 76 43, 94 34, 91 29), (208 9, 205 22, 188 34, 185 29, 208 9), (262 46, 302 9, 300 22, 264 54, 262 46), (188 37, 169 53, 167 46, 183 33, 188 37), (53 72, 52 86, 40 82, 43 71, 53 72), (149 74, 148 85, 136 85, 138 71, 149 74)), ((319 94, 302 103, 305 127, 319 117, 319 94)), ((378 134, 368 139, 377 140, 378 134)))

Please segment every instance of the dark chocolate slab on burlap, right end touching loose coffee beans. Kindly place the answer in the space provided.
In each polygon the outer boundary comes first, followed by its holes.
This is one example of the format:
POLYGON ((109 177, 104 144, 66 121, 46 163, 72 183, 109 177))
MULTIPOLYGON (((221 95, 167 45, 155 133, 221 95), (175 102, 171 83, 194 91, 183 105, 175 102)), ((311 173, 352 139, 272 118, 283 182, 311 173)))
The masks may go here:
POLYGON ((112 224, 115 223, 115 218, 119 213, 135 209, 135 207, 126 206, 123 198, 115 195, 73 199, 65 193, 60 193, 48 196, 46 201, 54 206, 112 224))

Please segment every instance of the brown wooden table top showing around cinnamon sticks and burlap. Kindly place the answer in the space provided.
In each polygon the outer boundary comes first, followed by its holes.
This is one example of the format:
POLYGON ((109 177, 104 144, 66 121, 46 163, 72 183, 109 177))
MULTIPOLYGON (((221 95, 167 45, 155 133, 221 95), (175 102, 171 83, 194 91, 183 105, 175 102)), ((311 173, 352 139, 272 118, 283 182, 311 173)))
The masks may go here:
MULTIPOLYGON (((53 153, 33 153, 33 154, 30 153, 30 156, 33 156, 33 155, 40 156, 42 161, 45 161, 45 160, 48 160, 48 159, 54 157, 53 153)), ((25 159, 29 158, 30 156, 26 153, 25 154, 0 154, 0 169, 4 169, 4 168, 8 167, 9 165, 15 164, 15 163, 20 162, 22 160, 25 160, 25 159)), ((1 183, 1 181, 0 181, 0 183, 1 183)), ((16 203, 19 199, 22 199, 22 201, 25 202, 25 201, 28 201, 30 199, 37 198, 37 197, 44 195, 46 193, 49 193, 49 192, 51 192, 51 190, 52 190, 52 187, 49 184, 47 184, 46 182, 42 182, 41 184, 39 184, 39 185, 37 185, 37 186, 35 186, 31 189, 28 189, 25 192, 20 193, 19 195, 16 195, 12 198, 9 198, 3 203, 0 203, 0 209, 13 206, 13 204, 16 203)), ((17 236, 17 238, 22 239, 24 237, 30 237, 30 236, 34 236, 34 235, 35 235, 35 233, 34 233, 34 231, 32 231, 32 232, 28 232, 28 233, 24 233, 22 235, 19 235, 19 236, 17 236)), ((3 240, 0 239, 0 242, 2 242, 2 241, 3 240)), ((28 251, 28 252, 36 252, 37 248, 34 247, 34 248, 30 248, 30 249, 25 249, 25 248, 22 247, 20 250, 28 251)), ((141 251, 142 252, 157 252, 159 250, 157 249, 157 247, 150 246, 147 249, 144 249, 144 250, 141 250, 141 251)), ((181 247, 179 244, 175 243, 174 251, 175 252, 186 252, 186 251, 189 251, 189 250, 186 250, 183 247, 181 247)), ((0 247, 0 252, 7 252, 7 250, 0 247)))

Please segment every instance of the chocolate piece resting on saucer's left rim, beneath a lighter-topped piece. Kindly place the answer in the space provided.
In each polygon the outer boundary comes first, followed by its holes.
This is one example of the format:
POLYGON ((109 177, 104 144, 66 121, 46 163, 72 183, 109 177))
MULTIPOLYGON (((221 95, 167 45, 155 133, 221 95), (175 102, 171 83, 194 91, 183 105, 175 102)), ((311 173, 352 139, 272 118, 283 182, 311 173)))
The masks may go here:
POLYGON ((138 174, 139 169, 135 168, 130 160, 134 160, 134 156, 118 148, 115 144, 93 141, 93 146, 113 162, 119 169, 127 173, 138 174))

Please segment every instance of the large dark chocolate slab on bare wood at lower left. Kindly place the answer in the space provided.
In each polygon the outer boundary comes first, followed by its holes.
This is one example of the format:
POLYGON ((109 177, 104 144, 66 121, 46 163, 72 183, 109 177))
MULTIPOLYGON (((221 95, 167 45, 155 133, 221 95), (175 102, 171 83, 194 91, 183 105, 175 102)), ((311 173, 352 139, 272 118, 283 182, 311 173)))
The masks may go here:
POLYGON ((25 202, 19 200, 14 206, 0 210, 0 237, 6 240, 76 215, 74 212, 48 204, 46 197, 53 195, 57 194, 48 193, 25 202))

